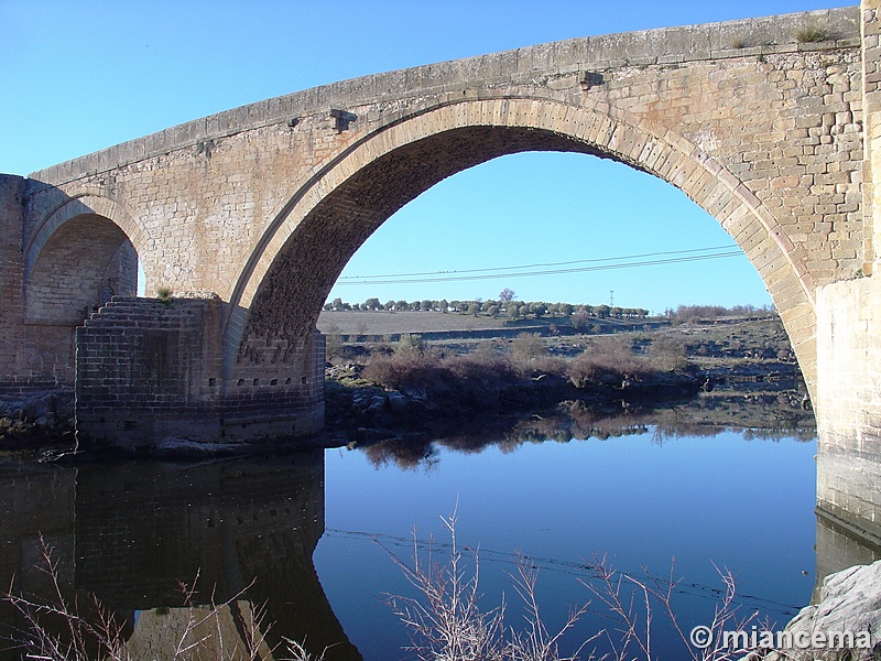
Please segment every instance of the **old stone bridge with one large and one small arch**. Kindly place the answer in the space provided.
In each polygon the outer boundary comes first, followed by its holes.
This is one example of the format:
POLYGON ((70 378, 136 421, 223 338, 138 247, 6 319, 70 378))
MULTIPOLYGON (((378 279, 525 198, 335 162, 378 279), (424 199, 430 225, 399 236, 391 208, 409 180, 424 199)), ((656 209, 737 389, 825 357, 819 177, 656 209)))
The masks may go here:
POLYGON ((820 501, 873 523, 878 6, 378 74, 4 176, 0 377, 75 383, 84 444, 308 434, 315 322, 370 234, 467 167, 580 152, 681 188, 743 249, 815 402, 820 501), (159 297, 134 297, 139 260, 159 297))

